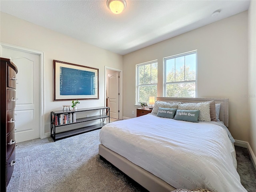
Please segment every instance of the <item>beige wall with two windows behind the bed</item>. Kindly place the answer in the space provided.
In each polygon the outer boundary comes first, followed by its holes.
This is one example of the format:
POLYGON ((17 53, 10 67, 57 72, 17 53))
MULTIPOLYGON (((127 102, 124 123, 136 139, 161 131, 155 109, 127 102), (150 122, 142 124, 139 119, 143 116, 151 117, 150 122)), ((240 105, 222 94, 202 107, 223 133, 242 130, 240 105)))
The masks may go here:
POLYGON ((158 96, 162 96, 163 58, 198 51, 198 97, 229 98, 229 130, 249 140, 248 12, 242 12, 123 57, 123 108, 135 117, 135 65, 158 59, 158 96))

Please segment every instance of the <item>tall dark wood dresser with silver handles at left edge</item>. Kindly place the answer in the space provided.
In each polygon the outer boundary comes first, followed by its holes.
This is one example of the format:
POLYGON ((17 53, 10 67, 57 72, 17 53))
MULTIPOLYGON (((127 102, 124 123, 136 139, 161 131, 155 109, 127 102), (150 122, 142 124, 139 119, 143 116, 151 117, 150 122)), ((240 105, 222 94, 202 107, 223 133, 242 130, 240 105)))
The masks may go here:
MULTIPOLYGON (((6 170, 5 179, 8 185, 15 164, 15 114, 16 74, 18 69, 10 59, 1 58, 0 65, 0 122, 1 122, 1 172, 6 170), (6 147, 3 147, 6 146, 6 147), (5 151, 4 151, 5 149, 5 151), (6 155, 6 158, 4 157, 6 155), (5 166, 4 166, 5 165, 5 166)), ((1 176, 1 180, 3 180, 1 176)), ((1 181, 2 182, 2 181, 1 181)), ((6 190, 5 186, 5 190, 6 190)), ((1 191, 4 191, 1 184, 1 191)))

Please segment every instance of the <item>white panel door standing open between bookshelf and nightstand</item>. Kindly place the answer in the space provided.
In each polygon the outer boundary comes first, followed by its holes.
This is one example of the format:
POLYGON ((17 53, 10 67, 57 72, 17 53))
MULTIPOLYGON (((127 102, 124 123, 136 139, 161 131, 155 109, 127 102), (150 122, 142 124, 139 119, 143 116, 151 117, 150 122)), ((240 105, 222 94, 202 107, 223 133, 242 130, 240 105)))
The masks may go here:
POLYGON ((108 100, 110 117, 119 119, 119 72, 108 74, 108 100))

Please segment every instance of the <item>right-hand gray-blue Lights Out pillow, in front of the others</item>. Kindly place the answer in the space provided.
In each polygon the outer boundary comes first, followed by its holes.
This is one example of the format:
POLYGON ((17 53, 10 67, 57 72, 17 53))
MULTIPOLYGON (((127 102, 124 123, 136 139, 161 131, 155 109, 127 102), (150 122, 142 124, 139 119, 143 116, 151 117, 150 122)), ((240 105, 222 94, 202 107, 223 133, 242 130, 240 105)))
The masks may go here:
POLYGON ((199 113, 199 110, 177 110, 174 119, 198 123, 199 113))

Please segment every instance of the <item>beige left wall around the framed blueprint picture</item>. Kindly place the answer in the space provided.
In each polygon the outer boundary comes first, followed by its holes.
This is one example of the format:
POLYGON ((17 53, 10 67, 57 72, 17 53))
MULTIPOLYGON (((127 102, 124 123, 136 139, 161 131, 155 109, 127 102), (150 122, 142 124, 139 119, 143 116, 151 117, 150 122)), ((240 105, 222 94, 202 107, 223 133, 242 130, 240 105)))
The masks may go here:
MULTIPOLYGON (((104 106, 104 66, 122 70, 122 56, 83 43, 1 12, 0 41, 44 52, 44 132, 50 132, 50 112, 71 101, 53 101, 53 60, 99 68, 99 100, 80 100, 79 108, 104 106)), ((38 74, 39 75, 39 74, 38 74)))

